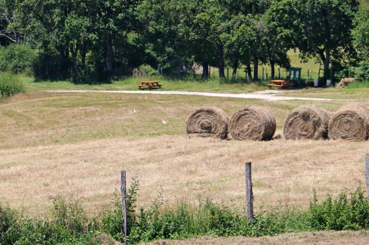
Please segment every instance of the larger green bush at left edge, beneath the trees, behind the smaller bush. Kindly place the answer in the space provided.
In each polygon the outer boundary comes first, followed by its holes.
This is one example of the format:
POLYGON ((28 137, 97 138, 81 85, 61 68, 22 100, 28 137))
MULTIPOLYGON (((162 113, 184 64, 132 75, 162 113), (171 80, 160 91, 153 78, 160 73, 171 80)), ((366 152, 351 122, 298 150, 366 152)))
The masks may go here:
POLYGON ((0 46, 0 72, 33 75, 33 62, 36 50, 21 44, 0 46))

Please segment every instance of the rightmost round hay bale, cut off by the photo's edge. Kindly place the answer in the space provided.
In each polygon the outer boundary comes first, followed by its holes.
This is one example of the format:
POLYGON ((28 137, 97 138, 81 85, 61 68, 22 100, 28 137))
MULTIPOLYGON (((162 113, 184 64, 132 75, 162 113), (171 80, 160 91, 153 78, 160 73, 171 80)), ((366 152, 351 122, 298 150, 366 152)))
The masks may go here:
POLYGON ((369 136, 369 109, 361 104, 342 106, 329 122, 333 140, 364 141, 369 136))

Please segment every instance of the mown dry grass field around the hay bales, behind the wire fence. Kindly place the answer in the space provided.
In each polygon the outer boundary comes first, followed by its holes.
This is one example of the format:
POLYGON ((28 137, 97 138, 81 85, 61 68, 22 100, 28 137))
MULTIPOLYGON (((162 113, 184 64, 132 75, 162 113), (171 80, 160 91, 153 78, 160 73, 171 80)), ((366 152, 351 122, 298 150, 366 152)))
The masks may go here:
POLYGON ((138 173, 139 206, 157 198, 164 205, 196 205, 209 197, 243 207, 244 163, 251 161, 256 212, 305 207, 314 190, 322 200, 365 185, 368 142, 189 139, 184 122, 200 106, 222 108, 230 117, 260 105, 274 113, 282 134, 287 114, 300 105, 334 112, 349 102, 36 91, 13 96, 0 102, 0 202, 41 214, 56 196, 73 196, 94 211, 111 205, 126 170, 129 178, 138 173))

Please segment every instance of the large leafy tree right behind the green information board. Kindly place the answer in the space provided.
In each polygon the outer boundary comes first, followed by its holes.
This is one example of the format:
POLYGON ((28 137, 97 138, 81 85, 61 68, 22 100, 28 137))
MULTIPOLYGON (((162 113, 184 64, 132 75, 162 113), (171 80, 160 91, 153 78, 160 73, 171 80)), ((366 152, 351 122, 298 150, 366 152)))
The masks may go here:
POLYGON ((303 59, 321 60, 325 83, 332 60, 355 55, 351 30, 357 8, 357 0, 283 0, 273 3, 273 15, 279 27, 293 31, 303 59))

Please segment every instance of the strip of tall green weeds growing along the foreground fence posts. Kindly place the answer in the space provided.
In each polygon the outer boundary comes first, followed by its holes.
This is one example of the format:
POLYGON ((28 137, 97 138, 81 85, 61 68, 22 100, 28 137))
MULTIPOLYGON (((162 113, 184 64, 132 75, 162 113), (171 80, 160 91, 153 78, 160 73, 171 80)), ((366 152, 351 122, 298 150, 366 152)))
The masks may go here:
MULTIPOLYGON (((164 207, 158 201, 135 211, 139 182, 133 180, 127 195, 128 243, 159 238, 184 239, 200 235, 264 236, 286 232, 318 230, 369 229, 369 202, 359 186, 355 192, 327 196, 323 203, 316 199, 308 210, 274 208, 260 212, 249 224, 244 210, 214 203, 211 199, 192 207, 179 202, 164 207)), ((8 207, 0 207, 0 244, 99 244, 98 235, 108 233, 123 241, 121 200, 115 208, 87 218, 78 202, 58 198, 48 218, 28 218, 8 207)))

